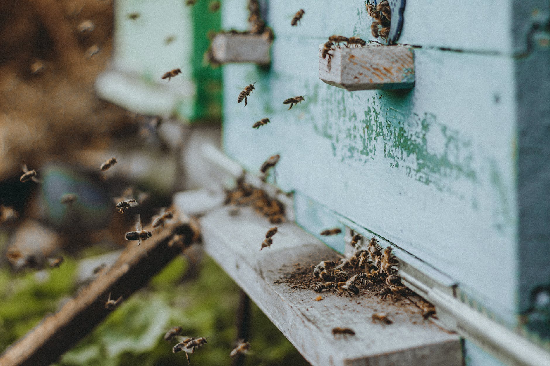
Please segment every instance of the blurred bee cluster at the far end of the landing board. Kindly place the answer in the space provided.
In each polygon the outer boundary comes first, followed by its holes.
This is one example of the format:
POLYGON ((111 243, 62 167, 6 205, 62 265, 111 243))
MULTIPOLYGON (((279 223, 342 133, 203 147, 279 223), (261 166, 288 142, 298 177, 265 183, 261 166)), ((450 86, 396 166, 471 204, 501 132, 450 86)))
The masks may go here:
POLYGON ((251 206, 254 210, 270 220, 271 224, 281 224, 284 218, 284 205, 276 198, 270 198, 259 188, 254 188, 240 178, 237 187, 228 191, 224 204, 234 206, 251 206))

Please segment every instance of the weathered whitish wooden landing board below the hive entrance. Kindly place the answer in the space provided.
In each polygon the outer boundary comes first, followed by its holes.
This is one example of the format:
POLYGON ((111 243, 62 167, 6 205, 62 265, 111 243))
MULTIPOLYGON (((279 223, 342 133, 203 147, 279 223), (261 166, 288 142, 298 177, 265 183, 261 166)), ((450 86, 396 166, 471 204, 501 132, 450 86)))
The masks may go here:
MULTIPOLYGON (((430 321, 420 310, 401 301, 378 297, 353 298, 274 283, 295 263, 334 258, 332 249, 292 223, 278 225, 273 245, 260 251, 270 223, 250 208, 230 216, 221 207, 201 218, 206 252, 241 286, 298 351, 313 365, 460 365, 459 337, 430 321), (371 321, 387 312, 394 324, 371 321), (335 339, 334 327, 349 327, 355 336, 335 339)), ((254 347, 254 345, 252 345, 254 347)))

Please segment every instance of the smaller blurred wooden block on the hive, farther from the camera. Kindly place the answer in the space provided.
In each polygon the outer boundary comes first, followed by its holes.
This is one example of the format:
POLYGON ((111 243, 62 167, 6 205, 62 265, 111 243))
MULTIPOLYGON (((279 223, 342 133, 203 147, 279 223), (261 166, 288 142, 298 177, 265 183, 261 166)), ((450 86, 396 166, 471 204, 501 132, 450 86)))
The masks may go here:
POLYGON ((222 33, 212 40, 212 54, 219 63, 267 65, 271 62, 270 48, 271 41, 265 35, 222 33))

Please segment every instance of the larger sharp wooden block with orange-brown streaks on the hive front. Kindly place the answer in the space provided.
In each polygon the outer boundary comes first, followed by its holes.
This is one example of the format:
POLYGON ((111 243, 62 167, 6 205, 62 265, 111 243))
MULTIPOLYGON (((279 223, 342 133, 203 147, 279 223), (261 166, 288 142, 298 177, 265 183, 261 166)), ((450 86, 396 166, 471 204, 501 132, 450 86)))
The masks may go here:
POLYGON ((353 90, 405 89, 414 86, 414 54, 407 46, 369 44, 340 47, 323 59, 319 53, 319 78, 327 84, 353 90))

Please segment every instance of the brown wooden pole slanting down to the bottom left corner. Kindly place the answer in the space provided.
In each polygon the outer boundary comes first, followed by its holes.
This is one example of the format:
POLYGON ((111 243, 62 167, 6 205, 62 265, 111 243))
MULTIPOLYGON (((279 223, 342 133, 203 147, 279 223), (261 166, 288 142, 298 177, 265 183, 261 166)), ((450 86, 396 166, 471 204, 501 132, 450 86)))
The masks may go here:
POLYGON ((127 299, 182 252, 182 247, 167 245, 175 233, 184 235, 184 245, 190 245, 193 230, 189 224, 167 226, 140 246, 131 242, 111 270, 10 346, 0 357, 0 365, 38 366, 56 362, 112 312, 105 308, 109 293, 113 300, 119 296, 127 299))

